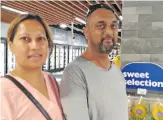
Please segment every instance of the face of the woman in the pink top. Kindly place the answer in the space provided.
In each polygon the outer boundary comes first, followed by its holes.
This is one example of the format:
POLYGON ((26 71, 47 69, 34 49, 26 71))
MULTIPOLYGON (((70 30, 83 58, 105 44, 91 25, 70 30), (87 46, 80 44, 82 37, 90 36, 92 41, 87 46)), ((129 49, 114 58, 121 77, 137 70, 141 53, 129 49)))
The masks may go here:
POLYGON ((16 66, 40 68, 48 55, 48 40, 44 27, 36 20, 25 20, 17 28, 9 47, 16 58, 16 66))

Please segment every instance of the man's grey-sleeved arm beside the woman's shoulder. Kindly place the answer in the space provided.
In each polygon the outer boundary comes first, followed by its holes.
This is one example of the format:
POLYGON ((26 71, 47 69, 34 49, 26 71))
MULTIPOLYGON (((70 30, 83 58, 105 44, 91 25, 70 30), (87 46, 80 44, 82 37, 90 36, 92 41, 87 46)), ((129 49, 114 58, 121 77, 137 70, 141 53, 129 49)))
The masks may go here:
POLYGON ((78 66, 68 66, 60 85, 61 102, 67 120, 90 120, 85 77, 78 66))

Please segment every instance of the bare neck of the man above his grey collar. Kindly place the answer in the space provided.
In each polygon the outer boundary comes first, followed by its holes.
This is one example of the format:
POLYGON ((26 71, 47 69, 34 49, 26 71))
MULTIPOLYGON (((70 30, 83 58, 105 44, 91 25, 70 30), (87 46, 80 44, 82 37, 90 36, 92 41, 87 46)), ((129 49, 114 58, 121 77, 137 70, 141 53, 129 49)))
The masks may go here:
POLYGON ((104 69, 110 68, 110 60, 108 58, 108 54, 98 53, 93 50, 87 49, 82 56, 99 67, 102 67, 104 69))

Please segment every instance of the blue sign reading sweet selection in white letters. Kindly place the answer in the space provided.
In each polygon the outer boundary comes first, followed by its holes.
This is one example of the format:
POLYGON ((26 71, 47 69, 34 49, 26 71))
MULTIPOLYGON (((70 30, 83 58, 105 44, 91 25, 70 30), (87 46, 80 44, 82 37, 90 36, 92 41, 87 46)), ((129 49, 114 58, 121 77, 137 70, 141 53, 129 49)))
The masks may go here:
POLYGON ((130 63, 124 66, 122 73, 129 89, 163 91, 163 68, 157 64, 130 63))

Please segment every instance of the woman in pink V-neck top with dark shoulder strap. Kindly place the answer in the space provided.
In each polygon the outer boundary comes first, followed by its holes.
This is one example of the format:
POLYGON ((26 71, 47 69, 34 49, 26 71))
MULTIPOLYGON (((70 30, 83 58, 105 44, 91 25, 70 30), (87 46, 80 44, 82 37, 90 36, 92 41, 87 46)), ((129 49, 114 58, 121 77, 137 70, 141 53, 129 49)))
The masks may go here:
MULTIPOLYGON (((46 23, 38 15, 26 14, 12 21, 8 46, 16 58, 16 68, 8 75, 15 78, 40 103, 52 120, 62 120, 58 89, 54 77, 42 71, 53 40, 46 23)), ((10 78, 0 79, 2 120, 46 120, 34 103, 10 78)))

